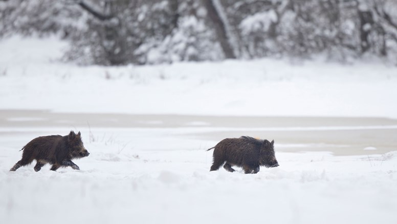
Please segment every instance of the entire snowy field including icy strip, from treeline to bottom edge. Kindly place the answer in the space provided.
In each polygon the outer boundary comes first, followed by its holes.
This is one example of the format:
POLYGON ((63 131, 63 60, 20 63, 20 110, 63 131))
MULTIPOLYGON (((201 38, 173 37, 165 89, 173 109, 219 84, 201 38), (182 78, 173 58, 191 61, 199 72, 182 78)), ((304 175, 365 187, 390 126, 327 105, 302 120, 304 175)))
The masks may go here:
POLYGON ((1 223, 396 223, 397 69, 260 59, 61 63, 65 44, 0 40, 1 223), (91 155, 9 169, 37 136, 91 155), (274 139, 277 168, 208 172, 225 137, 274 139))

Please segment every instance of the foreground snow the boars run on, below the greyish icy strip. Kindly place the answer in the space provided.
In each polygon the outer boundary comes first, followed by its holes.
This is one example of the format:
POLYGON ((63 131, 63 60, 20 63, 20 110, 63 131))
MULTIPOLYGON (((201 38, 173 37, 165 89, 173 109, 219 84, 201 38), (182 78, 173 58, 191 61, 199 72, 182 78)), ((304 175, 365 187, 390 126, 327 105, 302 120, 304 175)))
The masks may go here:
MULTIPOLYGON (((64 133, 65 129, 35 131, 64 133)), ((70 168, 8 170, 34 134, 2 133, 4 223, 395 223, 397 153, 333 156, 277 151, 280 167, 208 172, 212 142, 173 130, 82 130, 87 158, 70 168), (127 145, 126 145, 127 144, 127 145), (5 147, 6 146, 6 147, 5 147), (18 148, 17 148, 18 147, 18 148)), ((67 134, 67 133, 65 133, 67 134)))

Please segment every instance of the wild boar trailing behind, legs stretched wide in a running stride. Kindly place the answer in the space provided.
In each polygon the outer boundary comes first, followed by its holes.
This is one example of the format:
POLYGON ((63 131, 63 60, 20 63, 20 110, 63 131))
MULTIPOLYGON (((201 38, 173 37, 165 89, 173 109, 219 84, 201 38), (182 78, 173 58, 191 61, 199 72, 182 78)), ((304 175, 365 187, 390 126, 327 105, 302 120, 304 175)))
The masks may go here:
POLYGON ((74 170, 80 170, 72 162, 72 159, 90 155, 84 148, 80 132, 76 135, 73 131, 66 136, 50 135, 37 137, 21 150, 24 150, 22 159, 10 171, 15 171, 21 166, 31 164, 34 159, 37 161, 36 166, 34 166, 34 171, 36 172, 48 163, 52 165, 51 170, 54 171, 59 167, 72 167, 74 170))

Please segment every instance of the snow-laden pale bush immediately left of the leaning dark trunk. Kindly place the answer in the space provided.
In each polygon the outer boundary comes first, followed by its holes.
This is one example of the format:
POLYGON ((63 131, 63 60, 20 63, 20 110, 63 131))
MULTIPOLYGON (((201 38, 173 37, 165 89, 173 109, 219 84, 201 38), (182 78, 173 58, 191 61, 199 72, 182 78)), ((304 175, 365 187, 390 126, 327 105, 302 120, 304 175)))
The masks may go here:
POLYGON ((148 64, 224 58, 213 29, 207 25, 207 12, 201 2, 185 0, 178 7, 178 21, 164 38, 147 39, 138 49, 148 64))

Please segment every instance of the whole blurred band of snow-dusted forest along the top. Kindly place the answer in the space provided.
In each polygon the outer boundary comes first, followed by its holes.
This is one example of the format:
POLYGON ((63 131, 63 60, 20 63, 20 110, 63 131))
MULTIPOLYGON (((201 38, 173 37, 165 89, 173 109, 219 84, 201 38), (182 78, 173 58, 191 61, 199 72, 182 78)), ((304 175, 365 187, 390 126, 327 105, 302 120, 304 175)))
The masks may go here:
POLYGON ((54 33, 82 65, 319 54, 397 64, 397 1, 0 0, 0 41, 54 33))

